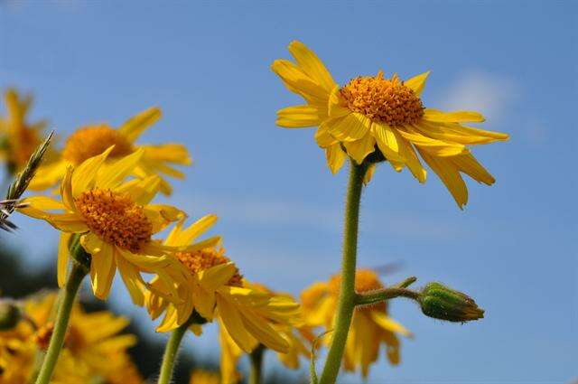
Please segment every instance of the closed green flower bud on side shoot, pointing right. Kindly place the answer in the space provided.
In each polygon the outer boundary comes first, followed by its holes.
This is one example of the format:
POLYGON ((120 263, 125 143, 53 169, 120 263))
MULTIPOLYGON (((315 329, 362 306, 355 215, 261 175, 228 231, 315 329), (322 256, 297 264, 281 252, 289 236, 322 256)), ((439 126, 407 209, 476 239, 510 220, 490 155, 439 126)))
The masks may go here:
POLYGON ((422 312, 448 322, 469 322, 484 317, 484 310, 468 295, 440 283, 429 283, 419 294, 422 312))

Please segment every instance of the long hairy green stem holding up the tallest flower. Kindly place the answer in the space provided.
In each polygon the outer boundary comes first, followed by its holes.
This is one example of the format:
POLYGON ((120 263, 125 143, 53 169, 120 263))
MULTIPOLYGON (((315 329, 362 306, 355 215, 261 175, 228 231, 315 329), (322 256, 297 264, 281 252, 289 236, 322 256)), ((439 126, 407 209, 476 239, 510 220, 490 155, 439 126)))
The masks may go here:
POLYGON ((350 161, 350 183, 345 207, 345 229, 343 236, 343 256, 341 259, 340 298, 337 319, 333 331, 333 341, 323 367, 320 384, 332 384, 340 371, 345 342, 350 332, 351 318, 355 309, 355 269, 358 250, 359 202, 363 189, 363 176, 368 165, 350 161))

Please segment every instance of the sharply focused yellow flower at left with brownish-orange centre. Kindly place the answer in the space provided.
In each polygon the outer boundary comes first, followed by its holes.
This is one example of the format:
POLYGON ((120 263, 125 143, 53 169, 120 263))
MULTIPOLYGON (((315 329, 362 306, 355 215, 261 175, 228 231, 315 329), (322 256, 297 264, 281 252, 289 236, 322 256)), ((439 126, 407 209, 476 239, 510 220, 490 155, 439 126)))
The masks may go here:
MULTIPOLYGON (((123 183, 140 163, 143 149, 104 167, 112 151, 110 147, 77 168, 69 166, 61 183, 61 201, 29 197, 23 200, 28 206, 20 211, 61 230, 59 286, 66 278, 70 239, 79 234, 80 245, 92 256, 90 279, 94 295, 107 298, 118 268, 135 304, 143 305, 146 284, 141 272, 154 273, 168 281, 176 275, 171 274, 171 268, 180 267, 172 258, 174 253, 205 248, 219 242, 219 238, 180 248, 152 239, 154 233, 181 219, 184 213, 172 206, 150 203, 160 188, 157 176, 123 183)), ((178 300, 172 285, 171 288, 168 295, 178 300)))

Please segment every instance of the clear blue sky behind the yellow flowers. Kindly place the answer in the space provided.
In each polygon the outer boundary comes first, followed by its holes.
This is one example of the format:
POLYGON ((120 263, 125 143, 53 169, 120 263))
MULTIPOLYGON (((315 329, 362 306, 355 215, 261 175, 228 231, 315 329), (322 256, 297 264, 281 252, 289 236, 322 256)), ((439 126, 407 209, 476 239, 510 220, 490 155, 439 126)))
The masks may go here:
MULTIPOLYGON (((487 317, 441 323, 394 302, 415 339, 400 366, 382 358, 368 382, 567 382, 578 375, 577 22, 575 1, 8 1, 0 87, 32 91, 33 117, 61 135, 163 108, 143 142, 184 143, 195 161, 171 201, 192 217, 217 213, 242 272, 296 295, 338 268, 347 172, 331 176, 312 129, 275 126, 275 110, 300 100, 271 62, 297 39, 341 84, 379 69, 432 70, 426 106, 475 108, 484 127, 510 134, 473 150, 498 181, 469 181, 460 211, 433 173, 421 185, 382 166, 362 202, 359 265, 403 262, 384 279, 443 281, 487 317)), ((26 249, 31 265, 53 262, 55 231, 17 221, 24 229, 3 241, 26 249)), ((150 326, 124 287, 114 290, 118 311, 150 326)), ((217 356, 209 337, 188 342, 217 356)))

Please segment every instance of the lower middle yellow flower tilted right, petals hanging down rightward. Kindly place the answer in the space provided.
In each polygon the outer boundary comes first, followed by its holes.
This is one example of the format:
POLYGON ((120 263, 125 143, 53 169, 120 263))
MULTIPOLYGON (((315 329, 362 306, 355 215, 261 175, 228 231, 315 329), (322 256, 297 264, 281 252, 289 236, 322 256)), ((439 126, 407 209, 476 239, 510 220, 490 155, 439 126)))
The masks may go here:
MULTIPOLYGON (((187 247, 195 235, 194 224, 182 229, 182 222, 179 222, 167 237, 165 246, 187 247)), ((195 310, 207 321, 217 318, 243 351, 253 351, 259 343, 274 351, 285 353, 289 350, 289 343, 272 324, 290 323, 299 312, 299 304, 284 296, 268 295, 244 286, 238 268, 224 255, 222 248, 187 250, 175 256, 188 270, 192 304, 188 308, 189 315, 195 310)), ((154 290, 145 293, 147 310, 153 319, 166 311, 157 331, 169 331, 176 327, 177 314, 184 308, 157 295, 157 292, 168 290, 163 279, 155 278, 151 286, 154 290)), ((193 327, 192 331, 199 333, 200 327, 193 327)))

